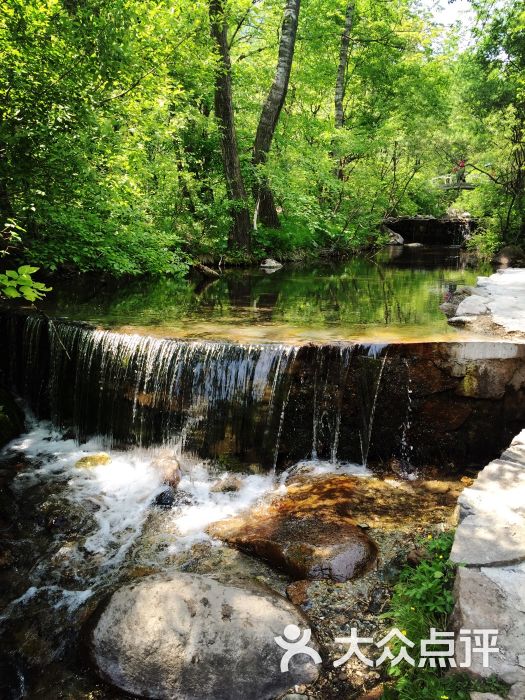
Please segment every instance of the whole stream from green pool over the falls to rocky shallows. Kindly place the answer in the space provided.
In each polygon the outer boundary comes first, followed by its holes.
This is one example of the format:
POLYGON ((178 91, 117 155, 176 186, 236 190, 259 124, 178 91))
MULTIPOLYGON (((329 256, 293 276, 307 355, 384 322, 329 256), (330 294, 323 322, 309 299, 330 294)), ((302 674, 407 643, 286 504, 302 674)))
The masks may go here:
MULTIPOLYGON (((233 271, 202 289, 90 297, 91 283, 69 283, 45 315, 0 315, 0 366, 26 417, 0 454, 2 698, 129 697, 96 674, 88 638, 108 596, 159 572, 258 581, 326 645, 357 622, 385 632, 407 553, 451 527, 461 490, 523 420, 522 349, 465 343, 437 308, 479 271, 457 249, 393 255, 233 271), (305 597, 282 562, 219 536, 274 504, 293 513, 294 498, 371 538, 375 564, 314 576, 305 597)), ((310 697, 358 692, 374 673, 323 672, 310 697)))

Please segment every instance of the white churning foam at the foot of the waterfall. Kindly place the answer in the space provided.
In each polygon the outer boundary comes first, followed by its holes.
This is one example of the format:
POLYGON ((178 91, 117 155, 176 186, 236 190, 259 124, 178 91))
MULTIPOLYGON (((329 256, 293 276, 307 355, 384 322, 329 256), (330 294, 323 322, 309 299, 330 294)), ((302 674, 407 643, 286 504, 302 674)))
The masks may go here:
MULTIPOLYGON (((81 457, 100 452, 102 448, 98 439, 82 445, 74 440, 64 440, 46 423, 36 423, 32 430, 6 448, 23 453, 31 462, 15 478, 15 489, 23 491, 47 482, 52 485, 53 494, 73 506, 92 510, 94 527, 91 532, 87 536, 79 535, 78 546, 60 550, 65 559, 73 558, 86 564, 86 596, 91 594, 91 588, 96 587, 97 577, 103 571, 118 567, 140 540, 155 497, 166 489, 160 471, 152 465, 154 450, 111 450, 108 464, 90 468, 75 466, 81 457)), ((178 486, 178 495, 182 497, 172 510, 157 512, 154 519, 154 527, 158 528, 156 534, 168 544, 167 548, 159 548, 154 558, 165 558, 184 551, 195 542, 209 540, 206 529, 211 523, 235 516, 270 494, 286 493, 286 477, 298 470, 306 470, 313 476, 329 473, 372 475, 369 469, 359 464, 305 460, 277 478, 274 473, 237 474, 240 480, 238 491, 216 492, 212 487, 219 478, 227 476, 224 472, 203 462, 183 463, 178 486)), ((146 533, 146 542, 151 534, 146 533)), ((65 602, 62 604, 69 604, 70 600, 74 604, 77 599, 81 604, 83 599, 79 595, 69 596, 64 591, 65 602)))

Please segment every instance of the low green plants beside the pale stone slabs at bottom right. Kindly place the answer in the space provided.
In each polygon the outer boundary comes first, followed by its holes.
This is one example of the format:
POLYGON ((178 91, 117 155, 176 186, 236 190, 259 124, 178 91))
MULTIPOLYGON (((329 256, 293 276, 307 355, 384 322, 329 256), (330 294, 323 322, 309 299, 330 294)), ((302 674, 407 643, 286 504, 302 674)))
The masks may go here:
MULTIPOLYGON (((421 542, 425 556, 416 566, 406 565, 394 587, 385 617, 403 630, 416 647, 428 639, 431 627, 447 629, 454 599, 455 565, 449 555, 454 533, 447 532, 421 542)), ((495 678, 473 680, 464 673, 445 674, 440 668, 399 664, 391 669, 395 679, 385 686, 385 700, 470 700, 472 691, 506 696, 507 686, 495 678)))

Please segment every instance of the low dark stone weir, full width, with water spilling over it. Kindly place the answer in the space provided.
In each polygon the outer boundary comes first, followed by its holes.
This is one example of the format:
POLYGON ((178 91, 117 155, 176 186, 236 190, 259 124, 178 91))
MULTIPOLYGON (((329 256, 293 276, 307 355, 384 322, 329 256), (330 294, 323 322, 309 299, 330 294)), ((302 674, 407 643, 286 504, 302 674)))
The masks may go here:
POLYGON ((5 315, 1 363, 39 418, 110 447, 169 445, 283 469, 301 459, 479 466, 525 418, 525 347, 180 341, 5 315))

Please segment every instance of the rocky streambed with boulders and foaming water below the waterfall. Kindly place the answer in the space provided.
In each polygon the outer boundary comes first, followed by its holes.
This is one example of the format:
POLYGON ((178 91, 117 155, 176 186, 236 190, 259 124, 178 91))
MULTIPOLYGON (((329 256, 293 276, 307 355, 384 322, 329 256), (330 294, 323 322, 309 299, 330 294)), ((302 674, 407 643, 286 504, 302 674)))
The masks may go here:
POLYGON ((36 424, 2 455, 2 697, 360 697, 380 672, 334 668, 335 638, 386 632, 400 567, 471 483, 186 458, 173 479, 165 451, 65 438, 36 424), (287 625, 322 663, 281 673, 287 625))

